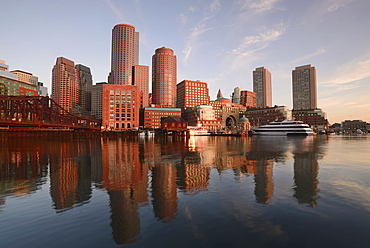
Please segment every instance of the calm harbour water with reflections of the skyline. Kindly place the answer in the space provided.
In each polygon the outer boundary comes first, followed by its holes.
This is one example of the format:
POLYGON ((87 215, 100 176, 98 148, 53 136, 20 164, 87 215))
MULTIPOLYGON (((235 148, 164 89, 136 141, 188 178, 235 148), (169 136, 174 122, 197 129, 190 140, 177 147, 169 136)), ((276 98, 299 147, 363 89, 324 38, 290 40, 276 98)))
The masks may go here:
POLYGON ((370 247, 370 135, 0 146, 0 247, 370 247))

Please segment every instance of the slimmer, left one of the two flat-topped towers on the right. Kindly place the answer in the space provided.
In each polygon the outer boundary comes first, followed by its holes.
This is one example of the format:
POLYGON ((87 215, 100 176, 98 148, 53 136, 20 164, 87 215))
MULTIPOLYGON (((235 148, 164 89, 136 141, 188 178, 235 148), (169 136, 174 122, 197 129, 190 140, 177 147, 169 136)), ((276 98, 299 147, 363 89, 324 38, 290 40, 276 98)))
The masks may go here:
POLYGON ((271 73, 265 67, 253 71, 253 92, 257 93, 257 107, 272 106, 271 73))

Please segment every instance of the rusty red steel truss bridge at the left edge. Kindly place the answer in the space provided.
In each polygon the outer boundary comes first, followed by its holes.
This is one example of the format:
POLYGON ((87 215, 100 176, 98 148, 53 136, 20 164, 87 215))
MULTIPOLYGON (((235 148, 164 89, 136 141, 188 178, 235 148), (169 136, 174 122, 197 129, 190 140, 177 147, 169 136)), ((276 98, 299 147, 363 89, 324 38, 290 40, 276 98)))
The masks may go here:
POLYGON ((0 129, 100 130, 96 119, 76 116, 44 96, 0 96, 0 129))

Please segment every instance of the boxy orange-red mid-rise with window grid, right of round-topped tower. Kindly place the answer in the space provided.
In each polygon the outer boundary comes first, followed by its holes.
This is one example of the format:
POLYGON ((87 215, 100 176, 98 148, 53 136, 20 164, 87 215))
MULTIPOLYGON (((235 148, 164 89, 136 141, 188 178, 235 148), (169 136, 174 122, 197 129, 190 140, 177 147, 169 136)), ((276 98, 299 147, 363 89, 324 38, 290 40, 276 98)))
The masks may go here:
POLYGON ((183 80, 177 85, 176 107, 192 108, 209 105, 208 84, 201 81, 183 80))

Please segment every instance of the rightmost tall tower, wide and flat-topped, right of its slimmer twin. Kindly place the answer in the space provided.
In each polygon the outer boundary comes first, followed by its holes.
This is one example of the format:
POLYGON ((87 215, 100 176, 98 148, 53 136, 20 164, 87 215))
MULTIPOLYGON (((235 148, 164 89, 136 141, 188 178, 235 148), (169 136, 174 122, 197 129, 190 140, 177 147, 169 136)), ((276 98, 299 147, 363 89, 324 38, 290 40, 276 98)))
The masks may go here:
POLYGON ((292 84, 293 109, 316 109, 316 68, 311 65, 296 67, 292 71, 292 84))

